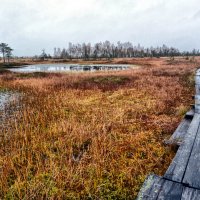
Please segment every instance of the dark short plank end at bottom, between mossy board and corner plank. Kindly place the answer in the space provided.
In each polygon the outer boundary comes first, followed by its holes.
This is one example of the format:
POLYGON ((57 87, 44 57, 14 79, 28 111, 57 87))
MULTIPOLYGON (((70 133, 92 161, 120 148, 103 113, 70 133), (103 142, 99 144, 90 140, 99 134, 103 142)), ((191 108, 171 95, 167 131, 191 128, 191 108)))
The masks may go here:
POLYGON ((183 185, 173 181, 165 180, 158 194, 157 200, 180 200, 183 192, 183 185))

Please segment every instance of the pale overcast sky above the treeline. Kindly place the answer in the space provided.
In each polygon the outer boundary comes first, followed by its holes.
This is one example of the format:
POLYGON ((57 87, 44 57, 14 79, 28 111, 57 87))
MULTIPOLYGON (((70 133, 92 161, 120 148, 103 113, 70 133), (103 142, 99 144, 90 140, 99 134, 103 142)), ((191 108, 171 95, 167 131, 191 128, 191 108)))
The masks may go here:
POLYGON ((0 42, 15 55, 110 40, 200 49, 199 0, 0 0, 0 42))

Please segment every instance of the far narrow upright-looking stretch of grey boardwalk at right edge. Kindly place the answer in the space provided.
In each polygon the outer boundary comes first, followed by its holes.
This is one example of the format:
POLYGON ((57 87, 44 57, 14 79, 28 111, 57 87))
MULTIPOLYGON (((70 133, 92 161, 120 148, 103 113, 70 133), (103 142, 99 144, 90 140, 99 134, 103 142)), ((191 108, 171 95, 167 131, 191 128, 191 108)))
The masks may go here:
POLYGON ((195 113, 200 114, 200 69, 197 70, 195 76, 195 113))

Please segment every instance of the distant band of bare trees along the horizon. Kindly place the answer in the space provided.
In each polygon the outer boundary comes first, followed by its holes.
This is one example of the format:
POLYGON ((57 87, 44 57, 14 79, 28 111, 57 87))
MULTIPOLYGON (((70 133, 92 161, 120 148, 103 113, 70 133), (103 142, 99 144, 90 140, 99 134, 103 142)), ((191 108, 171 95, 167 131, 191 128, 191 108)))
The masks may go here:
POLYGON ((54 58, 62 59, 101 59, 101 58, 133 58, 133 57, 174 57, 174 56, 199 56, 199 50, 181 52, 174 47, 163 45, 161 47, 142 47, 140 44, 134 46, 130 42, 117 42, 113 44, 109 41, 95 43, 73 44, 69 43, 68 48, 54 48, 54 58))

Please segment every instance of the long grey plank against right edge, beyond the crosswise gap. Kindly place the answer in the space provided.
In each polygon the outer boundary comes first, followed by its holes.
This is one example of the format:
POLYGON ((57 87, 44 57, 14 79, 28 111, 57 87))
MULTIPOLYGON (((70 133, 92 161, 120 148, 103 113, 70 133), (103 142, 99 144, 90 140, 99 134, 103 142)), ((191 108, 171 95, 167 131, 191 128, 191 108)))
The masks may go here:
POLYGON ((200 128, 186 168, 183 183, 200 189, 200 128))

